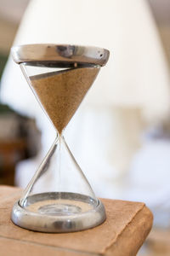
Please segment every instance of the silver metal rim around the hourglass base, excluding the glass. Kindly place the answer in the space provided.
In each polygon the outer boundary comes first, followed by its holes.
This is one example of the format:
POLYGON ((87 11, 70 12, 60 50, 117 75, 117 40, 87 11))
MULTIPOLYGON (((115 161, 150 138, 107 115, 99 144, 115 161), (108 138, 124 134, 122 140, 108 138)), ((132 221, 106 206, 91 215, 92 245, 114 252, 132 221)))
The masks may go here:
POLYGON ((97 207, 82 214, 68 216, 47 216, 28 212, 20 207, 19 201, 14 204, 11 219, 14 224, 27 230, 48 233, 64 233, 93 228, 105 221, 105 207, 99 201, 97 207))

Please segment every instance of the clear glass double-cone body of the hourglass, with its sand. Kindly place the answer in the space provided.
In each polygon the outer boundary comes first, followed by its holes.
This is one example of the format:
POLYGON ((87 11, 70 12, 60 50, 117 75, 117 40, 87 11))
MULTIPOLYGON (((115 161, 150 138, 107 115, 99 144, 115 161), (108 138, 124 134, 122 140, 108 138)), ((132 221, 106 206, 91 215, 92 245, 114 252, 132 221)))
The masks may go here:
POLYGON ((20 198, 20 206, 48 215, 88 212, 98 205, 98 200, 62 133, 94 82, 99 67, 20 66, 56 130, 54 144, 20 198))

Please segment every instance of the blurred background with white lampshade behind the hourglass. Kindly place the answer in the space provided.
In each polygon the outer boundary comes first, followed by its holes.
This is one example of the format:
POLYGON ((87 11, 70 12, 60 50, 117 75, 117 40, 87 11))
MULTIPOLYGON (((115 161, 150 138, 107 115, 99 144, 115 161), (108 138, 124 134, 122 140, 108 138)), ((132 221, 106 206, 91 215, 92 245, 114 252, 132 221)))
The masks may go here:
POLYGON ((170 1, 98 0, 97 13, 95 0, 66 2, 0 0, 0 183, 25 188, 55 137, 11 46, 110 49, 65 138, 97 196, 154 213, 139 256, 170 255, 170 1))

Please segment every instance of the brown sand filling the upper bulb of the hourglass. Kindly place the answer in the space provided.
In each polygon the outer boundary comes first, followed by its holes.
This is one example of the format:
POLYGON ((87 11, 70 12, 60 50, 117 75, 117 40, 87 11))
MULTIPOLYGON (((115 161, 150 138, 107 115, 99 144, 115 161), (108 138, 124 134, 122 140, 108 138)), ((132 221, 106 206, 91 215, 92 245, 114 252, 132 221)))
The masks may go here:
POLYGON ((30 77, 31 84, 59 134, 77 111, 99 68, 83 67, 30 77))

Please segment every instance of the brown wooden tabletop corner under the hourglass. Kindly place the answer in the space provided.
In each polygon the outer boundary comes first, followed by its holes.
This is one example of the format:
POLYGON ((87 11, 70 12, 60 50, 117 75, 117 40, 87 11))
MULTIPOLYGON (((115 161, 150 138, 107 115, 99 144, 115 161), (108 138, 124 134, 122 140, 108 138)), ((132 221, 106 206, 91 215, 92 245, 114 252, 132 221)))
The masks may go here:
POLYGON ((0 256, 133 256, 151 229, 152 214, 144 203, 103 199, 107 219, 94 229, 67 234, 24 230, 10 220, 20 193, 0 186, 0 256))

